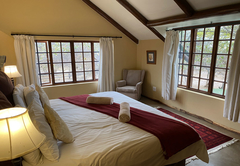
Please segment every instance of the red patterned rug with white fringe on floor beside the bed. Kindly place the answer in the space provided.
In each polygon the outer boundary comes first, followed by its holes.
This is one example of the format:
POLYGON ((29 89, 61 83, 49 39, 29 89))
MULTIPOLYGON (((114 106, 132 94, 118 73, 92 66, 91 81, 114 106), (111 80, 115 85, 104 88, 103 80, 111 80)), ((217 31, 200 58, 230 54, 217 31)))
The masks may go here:
MULTIPOLYGON (((158 110, 192 126, 196 130, 196 132, 201 136, 202 140, 206 144, 208 154, 217 152, 218 150, 220 150, 224 147, 227 147, 229 145, 232 145, 233 143, 238 141, 238 139, 231 138, 229 136, 221 134, 213 129, 210 129, 199 123, 193 122, 192 120, 189 120, 189 119, 179 116, 177 114, 174 114, 168 110, 165 110, 162 108, 158 108, 158 110)), ((197 157, 193 156, 193 157, 187 159, 186 164, 194 159, 197 159, 197 157)))

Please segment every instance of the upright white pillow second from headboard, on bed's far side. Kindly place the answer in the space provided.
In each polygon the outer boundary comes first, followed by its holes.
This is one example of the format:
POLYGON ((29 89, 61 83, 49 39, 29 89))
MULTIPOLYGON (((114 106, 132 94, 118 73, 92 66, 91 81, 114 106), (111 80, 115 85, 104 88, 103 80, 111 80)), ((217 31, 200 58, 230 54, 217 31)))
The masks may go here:
POLYGON ((39 98, 38 92, 35 90, 35 85, 29 85, 23 89, 23 94, 27 103, 27 106, 29 106, 33 100, 35 100, 37 103, 39 103, 42 106, 42 103, 39 98))

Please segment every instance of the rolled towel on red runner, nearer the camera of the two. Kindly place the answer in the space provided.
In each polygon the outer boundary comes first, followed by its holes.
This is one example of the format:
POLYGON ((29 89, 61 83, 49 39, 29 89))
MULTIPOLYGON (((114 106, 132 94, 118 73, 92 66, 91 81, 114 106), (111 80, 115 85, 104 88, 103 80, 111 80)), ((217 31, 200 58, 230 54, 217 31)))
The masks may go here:
POLYGON ((128 122, 131 120, 130 106, 127 102, 123 102, 120 104, 118 120, 120 122, 128 122))

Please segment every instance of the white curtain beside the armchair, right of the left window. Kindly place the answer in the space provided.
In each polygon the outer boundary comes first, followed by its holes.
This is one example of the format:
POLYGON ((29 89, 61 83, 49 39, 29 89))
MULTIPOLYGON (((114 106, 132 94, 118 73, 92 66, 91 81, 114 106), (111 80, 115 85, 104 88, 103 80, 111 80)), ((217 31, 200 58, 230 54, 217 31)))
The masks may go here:
POLYGON ((100 39, 98 92, 114 90, 114 44, 112 38, 100 39))

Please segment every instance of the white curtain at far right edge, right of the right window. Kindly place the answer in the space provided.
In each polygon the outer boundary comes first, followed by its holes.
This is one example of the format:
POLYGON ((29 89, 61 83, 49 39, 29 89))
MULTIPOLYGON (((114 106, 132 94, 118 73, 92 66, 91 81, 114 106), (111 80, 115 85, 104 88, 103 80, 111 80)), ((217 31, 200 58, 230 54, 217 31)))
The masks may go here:
POLYGON ((240 123, 240 28, 235 37, 223 117, 240 123))

